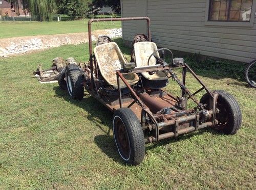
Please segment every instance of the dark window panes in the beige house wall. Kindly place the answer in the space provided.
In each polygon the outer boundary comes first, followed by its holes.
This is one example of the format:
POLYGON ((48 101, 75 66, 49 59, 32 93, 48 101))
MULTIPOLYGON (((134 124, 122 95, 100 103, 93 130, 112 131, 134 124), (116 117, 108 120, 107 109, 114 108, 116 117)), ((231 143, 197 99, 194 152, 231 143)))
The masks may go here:
POLYGON ((252 0, 210 0, 209 21, 249 22, 252 0))

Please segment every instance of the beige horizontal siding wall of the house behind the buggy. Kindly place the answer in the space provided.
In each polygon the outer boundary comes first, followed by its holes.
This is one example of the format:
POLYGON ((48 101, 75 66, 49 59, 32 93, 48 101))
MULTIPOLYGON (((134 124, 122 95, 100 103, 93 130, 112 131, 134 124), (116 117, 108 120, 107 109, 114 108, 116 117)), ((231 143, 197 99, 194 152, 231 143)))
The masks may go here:
MULTIPOLYGON (((122 17, 151 18, 152 40, 160 47, 241 62, 256 59, 255 0, 254 21, 246 26, 207 23, 207 0, 122 0, 121 3, 122 17)), ((123 22, 125 42, 133 40, 139 25, 136 21, 123 22)))

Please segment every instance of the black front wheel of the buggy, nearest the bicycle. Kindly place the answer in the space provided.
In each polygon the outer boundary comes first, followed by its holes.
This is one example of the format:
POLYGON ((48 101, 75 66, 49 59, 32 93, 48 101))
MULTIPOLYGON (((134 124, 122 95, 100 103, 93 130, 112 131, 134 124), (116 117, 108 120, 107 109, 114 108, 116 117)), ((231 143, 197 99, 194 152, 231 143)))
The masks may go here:
MULTIPOLYGON (((239 104, 229 93, 223 90, 215 90, 215 92, 219 94, 217 99, 219 113, 216 114, 219 123, 214 128, 225 134, 235 134, 242 124, 242 113, 239 104)), ((209 104, 209 95, 204 94, 200 102, 209 104)))

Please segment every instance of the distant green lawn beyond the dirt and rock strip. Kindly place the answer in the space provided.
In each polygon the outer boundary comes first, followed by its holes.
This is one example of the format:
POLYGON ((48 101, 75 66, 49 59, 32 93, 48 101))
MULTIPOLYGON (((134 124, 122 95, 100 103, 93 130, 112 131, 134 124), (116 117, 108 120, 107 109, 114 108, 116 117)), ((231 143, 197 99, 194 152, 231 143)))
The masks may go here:
MULTIPOLYGON (((89 19, 52 22, 1 22, 0 38, 88 32, 89 19)), ((92 29, 121 28, 121 22, 93 22, 92 29)))

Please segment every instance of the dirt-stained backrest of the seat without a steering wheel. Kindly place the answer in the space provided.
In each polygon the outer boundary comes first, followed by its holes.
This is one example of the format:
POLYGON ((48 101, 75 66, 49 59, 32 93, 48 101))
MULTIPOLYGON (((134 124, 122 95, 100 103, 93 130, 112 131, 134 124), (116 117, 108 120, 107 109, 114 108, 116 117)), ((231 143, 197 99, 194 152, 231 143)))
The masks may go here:
POLYGON ((123 54, 115 42, 98 45, 94 48, 94 55, 102 77, 110 85, 116 83, 115 69, 123 68, 127 63, 123 54))

